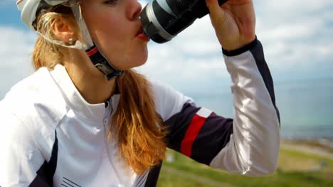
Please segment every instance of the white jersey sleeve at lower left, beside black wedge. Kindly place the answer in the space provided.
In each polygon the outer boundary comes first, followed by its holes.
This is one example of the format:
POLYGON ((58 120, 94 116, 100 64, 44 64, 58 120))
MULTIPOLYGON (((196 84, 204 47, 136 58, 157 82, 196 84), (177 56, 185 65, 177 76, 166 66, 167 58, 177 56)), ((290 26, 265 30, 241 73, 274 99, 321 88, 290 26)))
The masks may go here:
POLYGON ((1 111, 0 186, 29 186, 44 158, 26 125, 1 111))

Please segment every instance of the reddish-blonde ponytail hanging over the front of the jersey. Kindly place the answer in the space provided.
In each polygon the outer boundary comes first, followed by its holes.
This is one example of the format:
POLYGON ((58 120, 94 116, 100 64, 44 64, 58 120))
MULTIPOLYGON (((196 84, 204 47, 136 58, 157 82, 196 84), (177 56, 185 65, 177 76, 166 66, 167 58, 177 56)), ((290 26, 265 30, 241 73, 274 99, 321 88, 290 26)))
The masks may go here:
POLYGON ((120 156, 135 173, 142 174, 164 159, 166 132, 144 76, 129 69, 117 78, 117 86, 120 101, 112 118, 117 127, 110 135, 118 142, 120 156))

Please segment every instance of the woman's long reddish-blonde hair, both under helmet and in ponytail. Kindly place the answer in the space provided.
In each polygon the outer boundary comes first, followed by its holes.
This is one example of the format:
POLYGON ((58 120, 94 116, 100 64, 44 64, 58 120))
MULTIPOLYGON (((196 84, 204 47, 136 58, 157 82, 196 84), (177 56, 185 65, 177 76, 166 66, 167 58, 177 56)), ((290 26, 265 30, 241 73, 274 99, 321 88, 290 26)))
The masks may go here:
MULTIPOLYGON (((69 7, 58 6, 49 8, 37 16, 35 28, 44 37, 39 37, 33 51, 35 69, 48 67, 53 69, 56 64, 62 64, 66 55, 65 47, 55 45, 45 38, 57 40, 51 28, 55 18, 74 18, 69 7)), ((110 135, 118 142, 120 157, 137 174, 151 169, 164 159, 166 131, 162 128, 162 118, 154 108, 149 81, 132 69, 117 77, 117 88, 120 91, 120 101, 112 123, 117 124, 110 129, 110 135)))

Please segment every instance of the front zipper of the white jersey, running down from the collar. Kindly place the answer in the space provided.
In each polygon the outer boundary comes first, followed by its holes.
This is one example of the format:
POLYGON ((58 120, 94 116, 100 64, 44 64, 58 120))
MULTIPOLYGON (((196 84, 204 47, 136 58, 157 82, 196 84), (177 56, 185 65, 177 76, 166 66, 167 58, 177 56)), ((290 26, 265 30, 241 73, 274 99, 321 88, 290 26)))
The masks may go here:
MULTIPOLYGON (((110 100, 111 100, 111 98, 110 98, 110 100)), ((112 101, 111 102, 107 101, 107 108, 106 108, 106 111, 105 111, 105 116, 103 118, 104 131, 105 131, 105 133, 104 133, 105 147, 107 149, 107 158, 109 159, 109 162, 110 162, 110 164, 112 166, 113 171, 115 171, 115 174, 117 176, 118 181, 120 181, 120 184, 122 186, 125 186, 125 182, 122 180, 122 177, 120 176, 120 174, 118 173, 117 169, 115 168, 115 164, 113 164, 113 162, 112 162, 112 158, 110 156, 110 145, 109 145, 109 142, 107 140, 107 135, 109 133, 107 125, 108 125, 110 114, 112 113, 112 111, 113 111, 112 101)))

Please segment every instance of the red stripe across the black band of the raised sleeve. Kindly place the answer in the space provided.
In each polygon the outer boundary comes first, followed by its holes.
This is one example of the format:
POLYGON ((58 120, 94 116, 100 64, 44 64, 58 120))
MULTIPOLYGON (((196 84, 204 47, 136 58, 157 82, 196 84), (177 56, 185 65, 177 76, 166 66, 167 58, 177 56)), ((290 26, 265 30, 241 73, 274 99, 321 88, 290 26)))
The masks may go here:
POLYGON ((206 118, 203 118, 199 115, 194 115, 189 128, 187 128, 185 137, 181 141, 181 153, 185 154, 187 157, 191 157, 193 142, 196 140, 196 137, 198 136, 199 131, 201 130, 205 121, 206 118))

